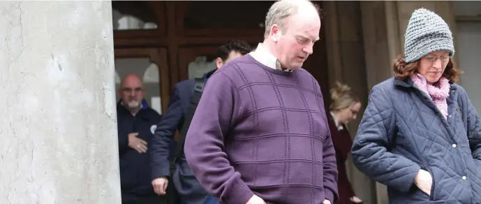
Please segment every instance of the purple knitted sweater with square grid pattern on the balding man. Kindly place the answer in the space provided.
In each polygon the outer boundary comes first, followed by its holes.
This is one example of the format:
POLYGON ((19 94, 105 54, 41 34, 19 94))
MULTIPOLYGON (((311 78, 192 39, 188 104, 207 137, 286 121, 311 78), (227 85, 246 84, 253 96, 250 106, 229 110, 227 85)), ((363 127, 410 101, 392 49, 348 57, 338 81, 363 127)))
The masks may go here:
POLYGON ((220 203, 337 198, 334 147, 318 82, 246 54, 207 82, 188 129, 188 165, 220 203))

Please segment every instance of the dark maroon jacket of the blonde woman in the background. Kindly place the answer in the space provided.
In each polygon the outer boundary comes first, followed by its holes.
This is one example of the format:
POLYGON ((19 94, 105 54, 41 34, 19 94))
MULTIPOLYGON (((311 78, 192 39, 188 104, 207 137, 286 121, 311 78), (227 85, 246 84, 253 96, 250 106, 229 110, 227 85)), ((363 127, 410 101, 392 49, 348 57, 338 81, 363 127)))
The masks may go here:
POLYGON ((339 191, 339 200, 337 204, 352 204, 350 198, 355 196, 353 187, 349 182, 346 170, 346 159, 350 154, 350 148, 353 147, 353 140, 345 125, 342 130, 338 130, 332 115, 327 113, 329 117, 329 129, 331 131, 332 144, 336 150, 336 164, 339 175, 337 176, 337 189, 339 191))

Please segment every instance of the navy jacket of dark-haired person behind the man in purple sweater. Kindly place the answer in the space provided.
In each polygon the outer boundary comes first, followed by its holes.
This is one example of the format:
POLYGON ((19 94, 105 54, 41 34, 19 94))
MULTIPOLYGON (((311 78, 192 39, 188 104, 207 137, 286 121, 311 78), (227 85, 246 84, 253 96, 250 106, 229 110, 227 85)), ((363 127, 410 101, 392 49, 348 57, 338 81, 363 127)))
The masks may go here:
MULTIPOLYGON (((214 71, 204 75, 205 82, 207 82, 207 78, 209 78, 214 71)), ((184 117, 186 116, 188 105, 191 103, 193 96, 194 85, 195 80, 192 79, 184 80, 174 86, 168 110, 158 124, 154 139, 152 140, 152 180, 170 175, 168 146, 175 141, 175 132, 182 129, 184 117)), ((204 203, 208 195, 207 191, 205 191, 195 179, 191 168, 186 162, 185 156, 177 159, 176 166, 177 168, 172 180, 174 181, 175 188, 179 192, 182 203, 204 203)))

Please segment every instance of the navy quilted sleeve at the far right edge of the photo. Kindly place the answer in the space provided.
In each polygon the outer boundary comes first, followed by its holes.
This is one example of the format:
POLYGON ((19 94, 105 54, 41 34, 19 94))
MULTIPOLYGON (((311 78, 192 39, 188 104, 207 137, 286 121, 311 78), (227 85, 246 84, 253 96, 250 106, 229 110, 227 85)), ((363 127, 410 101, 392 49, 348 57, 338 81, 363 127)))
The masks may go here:
POLYGON ((468 98, 466 91, 461 88, 461 93, 464 95, 464 112, 466 112, 466 126, 468 131, 469 146, 474 159, 478 159, 478 166, 481 167, 481 119, 478 112, 473 106, 473 103, 468 98))

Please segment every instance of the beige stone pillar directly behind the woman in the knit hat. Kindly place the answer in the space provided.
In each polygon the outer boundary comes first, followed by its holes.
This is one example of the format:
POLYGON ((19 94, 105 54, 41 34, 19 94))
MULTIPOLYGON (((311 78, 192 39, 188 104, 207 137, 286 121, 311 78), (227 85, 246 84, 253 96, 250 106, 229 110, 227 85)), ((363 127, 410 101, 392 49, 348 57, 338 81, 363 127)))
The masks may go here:
MULTIPOLYGON (((454 12, 450 1, 362 1, 362 29, 367 89, 393 76, 394 59, 404 53, 404 34, 417 8, 438 13, 450 25, 456 46, 454 12)), ((454 60, 457 56, 454 56, 454 60)), ((388 203, 383 184, 376 183, 377 203, 388 203)))

